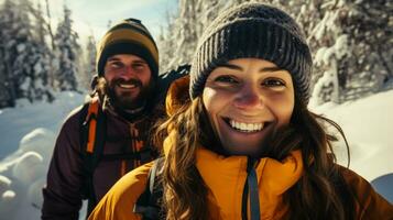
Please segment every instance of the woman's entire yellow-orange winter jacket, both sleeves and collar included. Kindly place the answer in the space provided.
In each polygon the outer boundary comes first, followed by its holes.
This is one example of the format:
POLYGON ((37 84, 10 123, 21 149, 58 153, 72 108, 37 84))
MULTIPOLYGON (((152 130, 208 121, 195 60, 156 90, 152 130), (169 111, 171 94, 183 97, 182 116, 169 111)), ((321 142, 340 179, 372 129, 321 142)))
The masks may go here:
MULTIPOLYGON (((177 81, 178 82, 178 81, 177 81)), ((174 84, 177 92, 186 88, 187 80, 174 84)), ((176 99, 176 96, 168 96, 176 99)), ((177 97, 178 98, 178 97, 177 97)), ((168 103, 177 105, 172 100, 168 103)), ((170 105, 171 106, 171 105, 170 105)), ((173 109, 170 109, 173 111, 173 109)), ((170 112, 171 112, 170 111, 170 112)), ((165 140, 164 151, 171 147, 171 135, 165 140)), ((247 179, 247 157, 225 157, 199 146, 196 152, 196 167, 208 188, 209 219, 240 220, 243 187, 247 179)), ((137 220, 142 219, 133 212, 139 196, 144 191, 152 163, 145 164, 123 176, 101 199, 91 212, 90 220, 137 220)), ((357 201, 356 219, 393 219, 393 206, 378 195, 370 184, 356 173, 340 169, 349 184, 357 201), (362 207, 362 208, 360 208, 362 207)), ((302 154, 292 152, 283 162, 261 158, 255 166, 259 185, 261 219, 281 219, 286 207, 282 195, 291 188, 303 174, 302 154)))

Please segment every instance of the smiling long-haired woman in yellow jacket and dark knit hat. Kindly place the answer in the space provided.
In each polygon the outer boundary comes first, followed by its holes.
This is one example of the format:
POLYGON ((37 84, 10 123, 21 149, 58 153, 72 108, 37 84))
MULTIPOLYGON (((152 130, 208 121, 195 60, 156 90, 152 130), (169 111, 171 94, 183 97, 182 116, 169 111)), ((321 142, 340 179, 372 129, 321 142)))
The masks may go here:
POLYGON ((312 63, 284 11, 243 3, 220 14, 200 37, 189 78, 170 88, 171 116, 156 132, 163 167, 129 173, 90 219, 392 219, 393 206, 336 163, 325 125, 345 139, 340 127, 307 109, 312 63), (140 204, 154 170, 162 202, 140 204))

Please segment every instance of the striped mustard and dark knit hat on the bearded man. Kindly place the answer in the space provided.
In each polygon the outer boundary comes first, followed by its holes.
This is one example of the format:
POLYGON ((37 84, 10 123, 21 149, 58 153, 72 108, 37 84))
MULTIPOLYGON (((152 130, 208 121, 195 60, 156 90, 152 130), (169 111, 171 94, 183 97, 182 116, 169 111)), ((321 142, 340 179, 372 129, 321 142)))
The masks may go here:
POLYGON ((116 54, 133 54, 143 58, 152 76, 159 76, 159 51, 148 29, 137 19, 114 24, 97 46, 97 73, 103 76, 107 58, 116 54))

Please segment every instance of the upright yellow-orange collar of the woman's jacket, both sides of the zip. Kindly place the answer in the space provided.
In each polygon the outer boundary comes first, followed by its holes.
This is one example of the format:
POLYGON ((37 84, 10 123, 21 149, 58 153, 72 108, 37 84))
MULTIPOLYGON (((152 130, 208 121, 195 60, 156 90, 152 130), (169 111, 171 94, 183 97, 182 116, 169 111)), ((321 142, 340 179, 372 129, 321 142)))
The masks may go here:
MULTIPOLYGON (((247 176, 247 156, 225 157, 203 146, 197 150, 196 166, 206 184, 222 183, 247 176)), ((301 151, 292 152, 283 162, 261 158, 256 175, 260 187, 270 196, 280 196, 291 188, 302 176, 303 163, 301 151)))

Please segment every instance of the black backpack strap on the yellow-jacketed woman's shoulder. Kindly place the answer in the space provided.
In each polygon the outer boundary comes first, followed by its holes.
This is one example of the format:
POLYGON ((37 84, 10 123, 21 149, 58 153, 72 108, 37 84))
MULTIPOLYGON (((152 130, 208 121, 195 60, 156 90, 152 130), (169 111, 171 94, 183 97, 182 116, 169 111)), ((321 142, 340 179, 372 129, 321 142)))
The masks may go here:
POLYGON ((164 157, 154 160, 149 170, 148 183, 144 191, 138 198, 133 211, 142 215, 143 220, 163 219, 162 196, 163 186, 161 175, 164 167, 164 157))

